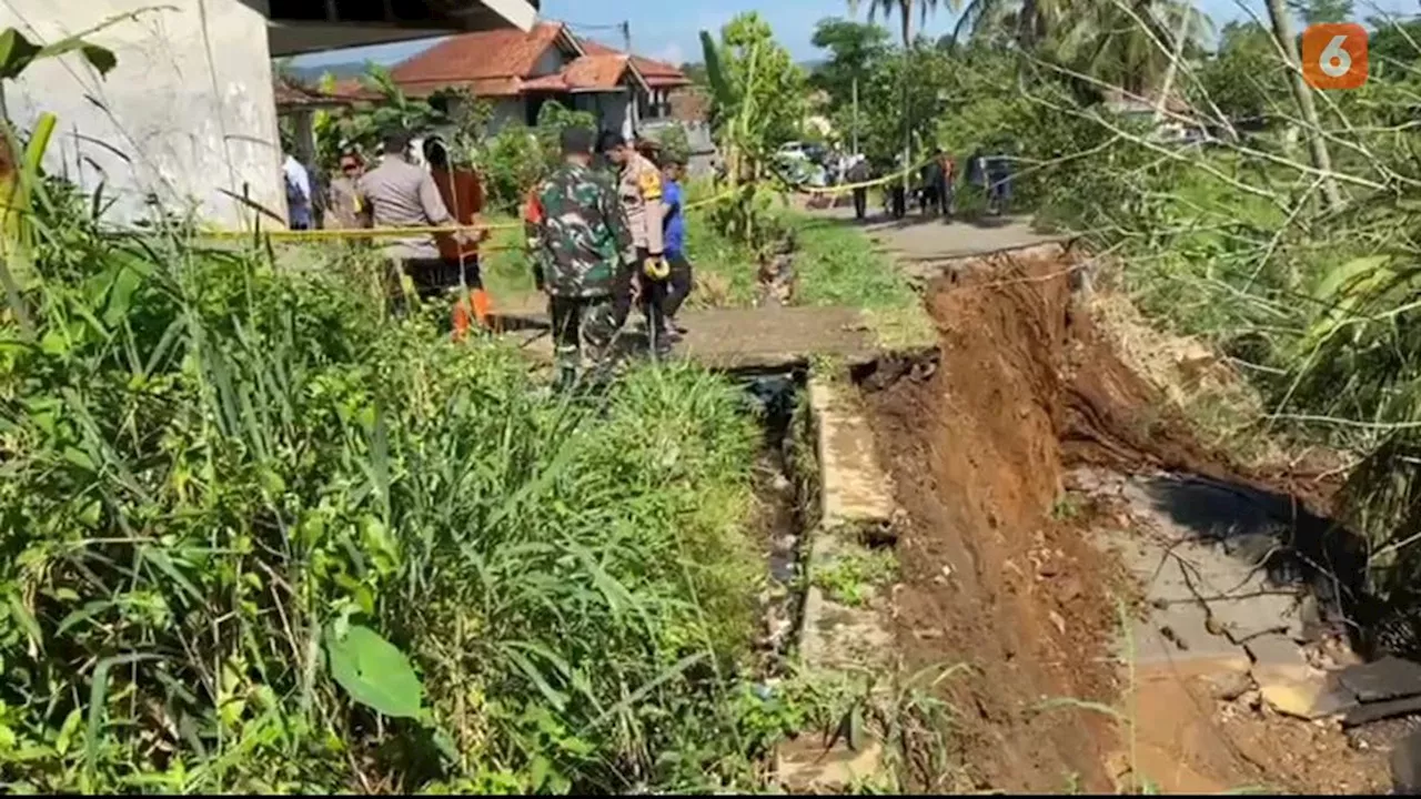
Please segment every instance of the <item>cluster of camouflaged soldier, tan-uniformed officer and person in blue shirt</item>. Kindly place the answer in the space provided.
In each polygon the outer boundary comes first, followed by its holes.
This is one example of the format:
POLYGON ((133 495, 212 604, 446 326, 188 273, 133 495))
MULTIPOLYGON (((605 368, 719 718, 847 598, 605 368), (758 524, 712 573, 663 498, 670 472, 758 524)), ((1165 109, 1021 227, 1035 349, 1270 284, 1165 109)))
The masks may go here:
POLYGON ((684 163, 617 132, 561 132, 563 162, 529 193, 523 210, 534 279, 549 294, 558 384, 614 360, 634 301, 659 357, 685 330, 676 311, 691 293, 685 256, 684 163), (658 163, 659 162, 659 163, 658 163))

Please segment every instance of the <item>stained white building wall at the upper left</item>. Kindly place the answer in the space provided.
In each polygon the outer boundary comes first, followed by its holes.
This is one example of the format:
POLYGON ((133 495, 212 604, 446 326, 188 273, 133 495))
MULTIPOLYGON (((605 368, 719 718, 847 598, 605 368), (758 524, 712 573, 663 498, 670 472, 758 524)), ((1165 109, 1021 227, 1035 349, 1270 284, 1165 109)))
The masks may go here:
MULTIPOLYGON (((90 37, 118 57, 104 80, 78 55, 31 65, 6 92, 11 119, 28 127, 41 111, 58 115, 47 168, 90 191, 102 182, 117 200, 117 222, 144 216, 152 195, 217 225, 250 225, 253 213, 223 193, 243 196, 244 186, 253 202, 280 213, 286 192, 266 18, 239 0, 163 4, 175 9, 90 37)), ((0 28, 44 44, 152 6, 6 0, 0 28)))

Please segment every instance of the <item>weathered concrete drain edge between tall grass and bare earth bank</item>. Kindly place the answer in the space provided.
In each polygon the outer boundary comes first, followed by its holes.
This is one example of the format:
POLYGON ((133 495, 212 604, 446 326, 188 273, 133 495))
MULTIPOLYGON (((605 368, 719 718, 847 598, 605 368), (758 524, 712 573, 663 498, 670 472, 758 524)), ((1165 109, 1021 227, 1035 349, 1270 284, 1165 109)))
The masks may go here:
MULTIPOLYGON (((864 368, 872 371, 855 371, 864 368)), ((831 584, 863 562, 891 559, 897 540, 892 485, 848 377, 806 370, 743 378, 766 427, 756 488, 772 577, 760 640, 769 680, 790 664, 816 675, 891 667, 880 586, 840 596, 831 584)), ((777 782, 791 793, 843 792, 878 782, 884 771, 875 741, 857 749, 841 741, 826 752, 817 736, 804 736, 774 755, 777 782)))

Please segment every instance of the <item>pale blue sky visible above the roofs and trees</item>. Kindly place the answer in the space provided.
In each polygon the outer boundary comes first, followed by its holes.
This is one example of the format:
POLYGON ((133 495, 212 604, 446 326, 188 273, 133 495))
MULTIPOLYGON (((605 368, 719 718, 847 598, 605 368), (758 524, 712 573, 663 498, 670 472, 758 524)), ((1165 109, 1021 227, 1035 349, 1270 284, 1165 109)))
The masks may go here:
MULTIPOLYGON (((1249 10, 1263 14, 1262 0, 1196 0, 1222 26, 1231 18, 1246 17, 1249 10)), ((620 0, 618 3, 591 3, 588 0, 544 0, 543 17, 573 24, 581 36, 621 45, 621 34, 615 26, 622 20, 631 23, 632 50, 641 55, 661 58, 679 64, 699 60, 698 31, 718 30, 740 11, 759 11, 774 28, 780 41, 790 48, 797 60, 817 58, 818 51, 810 44, 814 24, 823 17, 847 17, 845 0, 620 0)), ((860 3, 867 7, 868 3, 860 3)), ((1357 17, 1373 16, 1376 10, 1391 14, 1415 14, 1421 0, 1358 0, 1357 17)), ((865 17, 864 9, 858 11, 865 17)), ((952 30, 956 14, 942 3, 936 13, 928 17, 928 33, 941 34, 952 30)), ((914 20, 917 23, 918 20, 914 20)), ((897 30, 897 20, 892 21, 897 30)), ((394 63, 418 53, 425 43, 402 43, 384 47, 365 47, 338 53, 323 53, 298 58, 297 64, 331 64, 341 61, 374 60, 394 63)))

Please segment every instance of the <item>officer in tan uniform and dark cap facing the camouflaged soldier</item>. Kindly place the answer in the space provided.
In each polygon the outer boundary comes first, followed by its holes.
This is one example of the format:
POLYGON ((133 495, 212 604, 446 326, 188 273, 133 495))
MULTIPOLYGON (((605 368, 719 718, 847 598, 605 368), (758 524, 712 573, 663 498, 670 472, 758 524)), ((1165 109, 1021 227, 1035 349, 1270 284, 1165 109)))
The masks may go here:
MULTIPOLYGON (((604 134, 603 144, 607 159, 617 166, 617 196, 621 199, 627 225, 631 227, 632 243, 637 247, 634 272, 641 309, 647 316, 647 334, 651 337, 654 351, 662 355, 669 350, 671 343, 665 336, 666 314, 664 309, 665 284, 671 276, 671 267, 665 257, 661 169, 637 152, 620 134, 604 134)), ((618 297, 622 300, 618 307, 621 321, 625 321, 631 311, 630 289, 628 284, 628 291, 618 297)))

